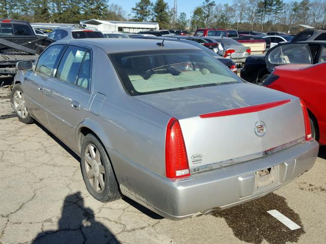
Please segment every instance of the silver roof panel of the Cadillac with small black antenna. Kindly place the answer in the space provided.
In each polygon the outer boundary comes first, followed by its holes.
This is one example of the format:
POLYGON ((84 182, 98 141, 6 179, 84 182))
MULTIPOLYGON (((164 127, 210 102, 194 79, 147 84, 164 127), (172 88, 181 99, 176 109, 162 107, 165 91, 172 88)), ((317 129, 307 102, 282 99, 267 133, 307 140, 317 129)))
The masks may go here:
POLYGON ((85 39, 70 39, 68 41, 58 41, 56 44, 79 44, 97 46, 106 53, 115 52, 133 52, 133 51, 146 51, 146 50, 171 50, 171 49, 195 49, 201 50, 191 44, 164 41, 164 46, 157 45, 157 40, 149 39, 114 39, 114 38, 85 38, 85 39))

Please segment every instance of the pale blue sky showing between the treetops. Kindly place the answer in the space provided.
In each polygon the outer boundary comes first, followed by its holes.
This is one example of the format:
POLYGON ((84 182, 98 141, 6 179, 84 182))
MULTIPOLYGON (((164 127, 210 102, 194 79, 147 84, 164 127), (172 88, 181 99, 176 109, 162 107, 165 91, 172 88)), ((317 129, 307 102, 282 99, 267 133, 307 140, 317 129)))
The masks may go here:
MULTIPOLYGON (((139 0, 109 0, 109 4, 118 4, 120 5, 127 14, 131 13, 131 8, 135 6, 135 4, 139 2, 139 0)), ((152 3, 155 0, 151 0, 152 3)), ((169 4, 170 8, 174 6, 174 0, 165 0, 169 4)), ((178 14, 181 12, 186 13, 187 18, 191 17, 191 12, 195 9, 195 7, 202 5, 203 0, 178 0, 178 14)), ((284 2, 290 2, 290 0, 285 0, 284 2)), ((215 0, 216 4, 232 4, 232 0, 215 0)))

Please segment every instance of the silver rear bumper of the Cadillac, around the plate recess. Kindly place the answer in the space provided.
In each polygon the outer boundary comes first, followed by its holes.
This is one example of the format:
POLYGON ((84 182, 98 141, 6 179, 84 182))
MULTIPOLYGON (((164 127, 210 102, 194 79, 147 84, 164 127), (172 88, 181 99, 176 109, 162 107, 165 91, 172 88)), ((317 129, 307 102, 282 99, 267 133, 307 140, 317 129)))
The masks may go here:
POLYGON ((311 169, 319 144, 312 139, 275 154, 206 172, 181 181, 158 175, 108 149, 122 193, 157 214, 181 220, 264 196, 311 169), (277 180, 256 189, 255 172, 274 167, 277 180))

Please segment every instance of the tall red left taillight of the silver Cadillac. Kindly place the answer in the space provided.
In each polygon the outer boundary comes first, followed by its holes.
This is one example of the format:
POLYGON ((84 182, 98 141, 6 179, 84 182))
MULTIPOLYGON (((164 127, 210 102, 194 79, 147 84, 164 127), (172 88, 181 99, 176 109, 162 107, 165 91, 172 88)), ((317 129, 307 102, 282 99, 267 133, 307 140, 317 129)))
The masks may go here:
POLYGON ((190 175, 187 151, 181 127, 176 118, 171 118, 167 126, 165 167, 168 178, 181 178, 190 175))

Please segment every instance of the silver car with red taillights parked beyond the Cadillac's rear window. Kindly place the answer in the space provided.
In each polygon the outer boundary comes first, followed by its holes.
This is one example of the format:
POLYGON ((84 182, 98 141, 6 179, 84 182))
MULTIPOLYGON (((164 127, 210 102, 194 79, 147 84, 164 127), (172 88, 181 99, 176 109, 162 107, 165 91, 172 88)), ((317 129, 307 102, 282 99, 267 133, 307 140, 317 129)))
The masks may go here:
MULTIPOLYGON (((206 38, 203 37, 203 39, 205 40, 206 38)), ((219 54, 223 57, 231 58, 238 67, 242 67, 246 58, 251 54, 250 48, 243 46, 231 38, 214 37, 214 39, 216 42, 221 43, 223 47, 222 52, 219 54)))

